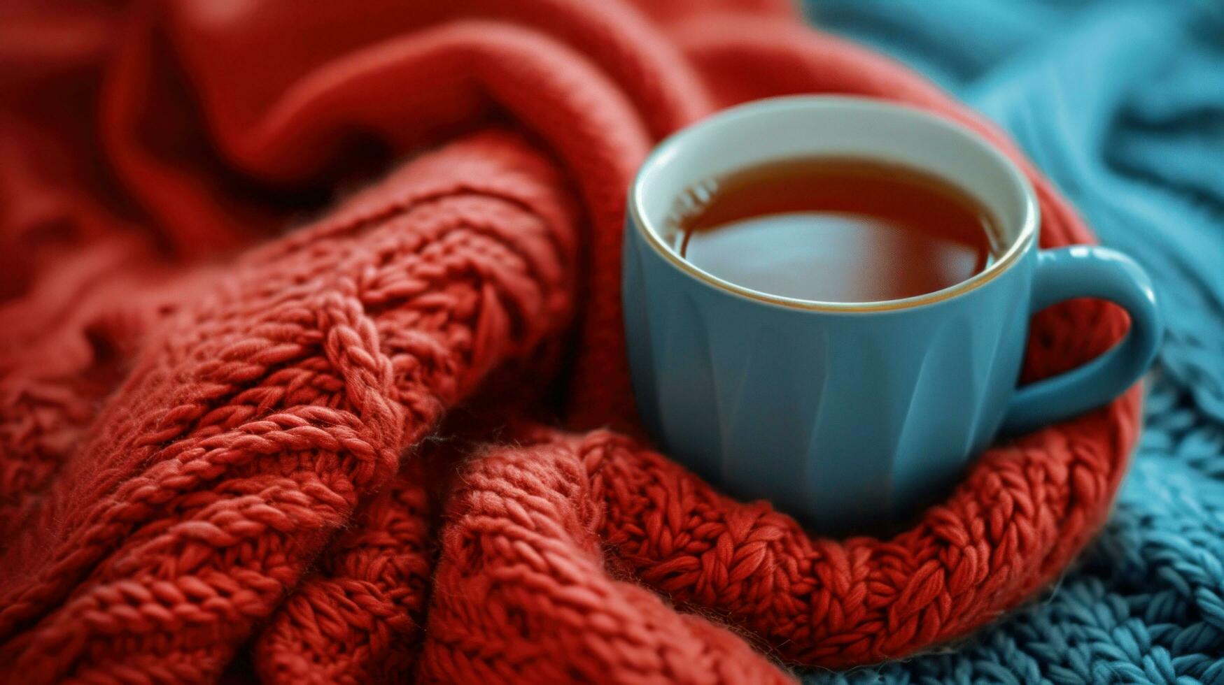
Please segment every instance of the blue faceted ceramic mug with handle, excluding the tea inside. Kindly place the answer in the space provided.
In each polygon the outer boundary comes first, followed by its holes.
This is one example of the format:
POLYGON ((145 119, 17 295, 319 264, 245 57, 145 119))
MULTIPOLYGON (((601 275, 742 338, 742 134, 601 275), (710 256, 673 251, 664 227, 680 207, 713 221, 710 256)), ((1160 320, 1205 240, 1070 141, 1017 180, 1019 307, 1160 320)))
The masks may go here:
POLYGON ((1038 250, 1023 174, 958 125, 881 100, 791 97, 665 141, 629 192, 623 302, 638 406, 657 442, 723 491, 827 532, 898 522, 946 493, 1000 429, 1121 394, 1162 335, 1152 284, 1103 247, 1038 250), (951 287, 885 302, 758 292, 681 258, 666 220, 703 180, 770 160, 879 159, 951 181, 995 217, 1001 254, 951 287), (1099 297, 1131 317, 1100 357, 1017 389, 1034 312, 1099 297))

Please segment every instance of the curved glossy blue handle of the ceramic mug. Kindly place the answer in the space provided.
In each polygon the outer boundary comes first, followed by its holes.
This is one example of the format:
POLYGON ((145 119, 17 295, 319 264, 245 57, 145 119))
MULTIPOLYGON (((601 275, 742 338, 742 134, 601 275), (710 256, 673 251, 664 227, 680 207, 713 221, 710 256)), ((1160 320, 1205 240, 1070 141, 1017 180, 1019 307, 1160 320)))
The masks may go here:
POLYGON ((1155 357, 1164 333, 1147 272, 1108 247, 1075 245, 1037 253, 1031 313, 1075 297, 1121 306, 1131 328, 1099 357, 1016 390, 1002 431, 1021 433, 1104 405, 1137 380, 1155 357))

